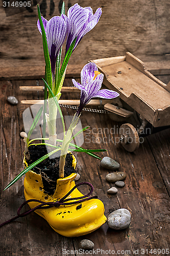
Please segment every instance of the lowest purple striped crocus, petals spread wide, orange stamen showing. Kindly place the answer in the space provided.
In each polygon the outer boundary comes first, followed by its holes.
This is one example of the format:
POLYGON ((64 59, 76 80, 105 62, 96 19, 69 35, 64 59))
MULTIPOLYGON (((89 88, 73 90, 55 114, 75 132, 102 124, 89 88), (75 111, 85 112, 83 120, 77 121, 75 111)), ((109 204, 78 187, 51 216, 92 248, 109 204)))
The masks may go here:
POLYGON ((72 79, 74 86, 81 90, 80 105, 77 110, 77 116, 80 115, 83 107, 89 103, 91 98, 99 97, 104 99, 113 99, 119 96, 119 93, 108 89, 100 90, 103 77, 104 75, 98 72, 96 64, 90 62, 81 70, 81 84, 75 79, 72 79))

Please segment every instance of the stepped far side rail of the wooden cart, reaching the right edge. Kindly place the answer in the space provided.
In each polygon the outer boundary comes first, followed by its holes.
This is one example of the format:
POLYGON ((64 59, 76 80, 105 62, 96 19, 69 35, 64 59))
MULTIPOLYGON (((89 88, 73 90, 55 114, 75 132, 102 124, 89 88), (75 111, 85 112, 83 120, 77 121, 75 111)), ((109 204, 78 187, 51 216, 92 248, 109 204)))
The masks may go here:
POLYGON ((166 91, 170 92, 170 82, 166 85, 164 82, 160 81, 158 78, 156 78, 153 74, 151 74, 149 71, 147 71, 144 68, 144 63, 135 57, 132 53, 126 52, 126 58, 125 61, 130 63, 132 66, 134 66, 136 69, 144 73, 147 77, 150 77, 152 80, 157 82, 161 87, 163 87, 166 91))

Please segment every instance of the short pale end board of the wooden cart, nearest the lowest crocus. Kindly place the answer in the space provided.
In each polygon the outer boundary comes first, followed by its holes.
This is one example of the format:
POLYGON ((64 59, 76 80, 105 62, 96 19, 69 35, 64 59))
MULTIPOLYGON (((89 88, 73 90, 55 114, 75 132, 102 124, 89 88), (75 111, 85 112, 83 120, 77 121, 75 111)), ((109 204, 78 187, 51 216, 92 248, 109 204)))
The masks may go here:
POLYGON ((103 58, 103 59, 94 59, 91 60, 91 62, 95 62, 97 66, 105 67, 112 64, 119 63, 121 61, 125 61, 125 56, 117 56, 117 57, 111 57, 111 58, 103 58))

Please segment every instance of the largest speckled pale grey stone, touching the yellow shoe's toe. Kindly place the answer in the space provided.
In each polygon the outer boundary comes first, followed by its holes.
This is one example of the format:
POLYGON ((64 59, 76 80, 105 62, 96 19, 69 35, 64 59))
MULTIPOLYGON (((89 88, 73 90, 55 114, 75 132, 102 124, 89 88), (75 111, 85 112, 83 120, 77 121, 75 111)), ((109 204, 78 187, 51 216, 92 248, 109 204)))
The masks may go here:
POLYGON ((108 225, 113 229, 124 229, 131 223, 131 213, 129 210, 121 208, 113 211, 108 216, 108 225))

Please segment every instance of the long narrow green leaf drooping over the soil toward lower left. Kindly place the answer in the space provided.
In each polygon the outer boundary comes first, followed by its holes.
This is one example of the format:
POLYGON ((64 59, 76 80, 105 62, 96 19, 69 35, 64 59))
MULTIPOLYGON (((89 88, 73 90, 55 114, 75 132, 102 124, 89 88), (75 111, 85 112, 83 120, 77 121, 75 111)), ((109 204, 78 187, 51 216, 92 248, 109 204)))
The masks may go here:
POLYGON ((31 168, 33 168, 35 165, 37 165, 38 163, 42 162, 43 160, 45 160, 46 158, 48 158, 49 156, 53 155, 54 153, 56 153, 57 151, 59 151, 60 148, 57 148, 57 150, 54 150, 50 153, 48 153, 47 155, 39 158, 37 161, 35 161, 34 163, 30 164, 27 168, 25 168, 23 170, 23 172, 21 172, 20 174, 18 174, 5 188, 4 191, 6 189, 8 189, 10 186, 12 186, 17 180, 19 180, 24 174, 26 174, 29 170, 31 170, 31 168))

